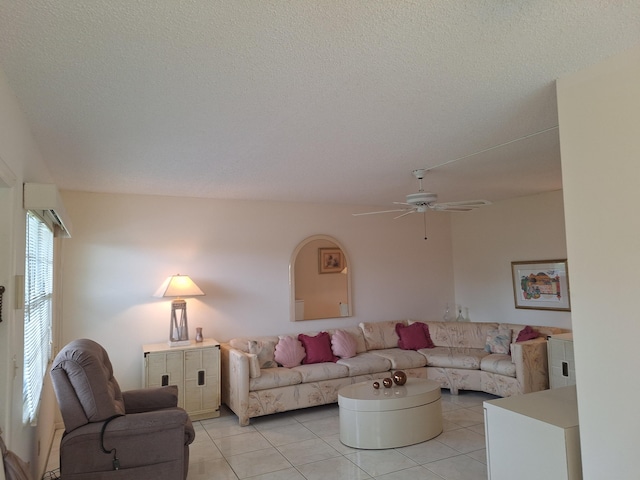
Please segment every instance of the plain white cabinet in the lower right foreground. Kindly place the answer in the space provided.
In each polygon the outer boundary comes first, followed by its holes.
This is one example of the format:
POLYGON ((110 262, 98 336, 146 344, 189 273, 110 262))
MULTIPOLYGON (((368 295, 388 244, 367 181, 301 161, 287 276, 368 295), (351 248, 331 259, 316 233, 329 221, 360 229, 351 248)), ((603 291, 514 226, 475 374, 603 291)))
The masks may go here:
POLYGON ((582 480, 576 387, 484 402, 489 480, 582 480))

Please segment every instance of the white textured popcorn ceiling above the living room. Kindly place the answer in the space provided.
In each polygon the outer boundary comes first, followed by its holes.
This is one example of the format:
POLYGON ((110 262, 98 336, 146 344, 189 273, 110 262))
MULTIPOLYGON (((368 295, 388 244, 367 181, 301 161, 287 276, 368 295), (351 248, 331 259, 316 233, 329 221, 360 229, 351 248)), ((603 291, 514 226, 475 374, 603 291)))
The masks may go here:
POLYGON ((638 43, 638 0, 0 0, 44 159, 96 192, 386 205, 442 164, 440 201, 556 190, 555 80, 638 43))

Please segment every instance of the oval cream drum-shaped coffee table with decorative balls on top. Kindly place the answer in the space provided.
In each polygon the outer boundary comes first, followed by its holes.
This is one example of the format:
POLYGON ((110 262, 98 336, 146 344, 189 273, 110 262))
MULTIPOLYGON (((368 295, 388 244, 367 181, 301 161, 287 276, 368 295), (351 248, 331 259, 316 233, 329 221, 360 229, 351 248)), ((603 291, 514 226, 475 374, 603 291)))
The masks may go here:
POLYGON ((340 441, 349 447, 395 448, 442 433, 440 384, 409 378, 401 387, 373 388, 374 380, 338 392, 340 441))

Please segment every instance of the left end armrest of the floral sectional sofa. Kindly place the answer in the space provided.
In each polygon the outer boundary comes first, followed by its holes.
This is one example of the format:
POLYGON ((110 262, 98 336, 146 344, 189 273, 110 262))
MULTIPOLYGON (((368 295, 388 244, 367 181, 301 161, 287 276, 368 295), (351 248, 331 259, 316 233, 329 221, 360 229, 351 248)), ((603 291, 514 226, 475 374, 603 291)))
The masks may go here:
POLYGON ((249 356, 229 344, 220 345, 222 401, 238 416, 240 425, 249 424, 249 356))

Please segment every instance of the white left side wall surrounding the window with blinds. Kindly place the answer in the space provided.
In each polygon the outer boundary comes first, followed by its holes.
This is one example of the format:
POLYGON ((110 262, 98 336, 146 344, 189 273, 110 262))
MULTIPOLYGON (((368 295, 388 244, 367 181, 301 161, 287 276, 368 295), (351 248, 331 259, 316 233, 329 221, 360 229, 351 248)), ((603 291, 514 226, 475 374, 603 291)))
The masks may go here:
POLYGON ((12 187, 0 182, 0 285, 6 288, 0 323, 0 429, 8 447, 31 462, 33 476, 38 478, 53 437, 55 403, 50 384, 45 383, 38 426, 22 425, 24 311, 15 308, 14 298, 16 275, 24 274, 26 212, 22 208, 22 183, 50 182, 51 175, 2 71, 0 163, 1 170, 15 179, 12 187), (42 446, 40 452, 38 444, 42 446))

